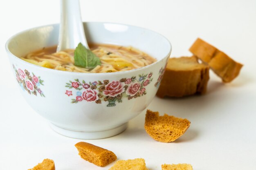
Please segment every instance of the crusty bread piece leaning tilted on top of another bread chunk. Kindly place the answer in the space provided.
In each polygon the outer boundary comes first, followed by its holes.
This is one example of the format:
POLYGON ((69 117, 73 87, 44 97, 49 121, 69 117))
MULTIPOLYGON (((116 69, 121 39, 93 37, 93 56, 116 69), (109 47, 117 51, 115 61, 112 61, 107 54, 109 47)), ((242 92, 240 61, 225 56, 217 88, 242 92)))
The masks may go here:
POLYGON ((200 38, 195 40, 189 51, 202 60, 202 62, 208 63, 214 73, 221 77, 225 83, 231 82, 236 78, 243 66, 243 64, 234 61, 227 54, 200 38))

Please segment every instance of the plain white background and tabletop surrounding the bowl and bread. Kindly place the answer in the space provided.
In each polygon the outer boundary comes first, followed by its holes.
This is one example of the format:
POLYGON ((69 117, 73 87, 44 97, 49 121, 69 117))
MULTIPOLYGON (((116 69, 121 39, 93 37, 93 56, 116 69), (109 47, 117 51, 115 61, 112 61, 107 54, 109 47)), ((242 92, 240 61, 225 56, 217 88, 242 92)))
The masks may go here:
POLYGON ((173 143, 151 139, 146 111, 115 137, 79 140, 58 135, 23 100, 5 53, 7 39, 31 27, 59 22, 58 0, 0 2, 0 170, 26 170, 45 158, 56 170, 107 170, 79 157, 86 141, 112 150, 118 159, 144 158, 150 170, 164 163, 191 163, 194 170, 253 170, 256 167, 255 0, 81 0, 83 21, 119 22, 166 36, 171 57, 191 55, 197 37, 244 64, 237 79, 223 84, 213 73, 203 96, 155 97, 149 109, 187 118, 191 127, 173 143))

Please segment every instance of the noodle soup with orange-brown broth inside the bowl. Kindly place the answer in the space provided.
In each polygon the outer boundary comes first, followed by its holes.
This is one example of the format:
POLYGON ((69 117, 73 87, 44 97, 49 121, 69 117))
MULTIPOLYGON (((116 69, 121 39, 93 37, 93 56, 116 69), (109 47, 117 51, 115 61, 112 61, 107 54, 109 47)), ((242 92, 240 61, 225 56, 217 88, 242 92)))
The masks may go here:
POLYGON ((88 69, 74 65, 74 49, 57 52, 57 46, 47 47, 21 57, 22 60, 39 66, 61 71, 81 73, 111 73, 128 71, 150 65, 157 60, 131 46, 89 44, 90 50, 101 61, 101 65, 88 69))

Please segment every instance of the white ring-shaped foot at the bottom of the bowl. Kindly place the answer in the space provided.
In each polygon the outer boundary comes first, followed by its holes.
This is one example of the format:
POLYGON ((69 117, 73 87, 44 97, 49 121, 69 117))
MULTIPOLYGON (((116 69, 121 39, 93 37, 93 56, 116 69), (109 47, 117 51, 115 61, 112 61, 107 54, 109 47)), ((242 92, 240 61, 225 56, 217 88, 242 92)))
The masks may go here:
POLYGON ((116 128, 112 128, 109 130, 96 131, 96 132, 67 130, 67 129, 58 127, 52 123, 50 124, 50 126, 55 132, 67 137, 72 137, 76 139, 103 139, 103 138, 118 135, 119 133, 123 132, 124 130, 126 130, 128 123, 122 124, 121 126, 117 126, 116 128))

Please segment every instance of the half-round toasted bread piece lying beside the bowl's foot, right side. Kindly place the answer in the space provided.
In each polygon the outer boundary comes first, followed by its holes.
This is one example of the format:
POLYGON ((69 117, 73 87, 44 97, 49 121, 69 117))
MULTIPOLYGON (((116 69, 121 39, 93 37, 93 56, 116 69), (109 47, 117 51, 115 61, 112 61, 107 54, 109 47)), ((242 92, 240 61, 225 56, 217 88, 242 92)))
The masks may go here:
POLYGON ((144 128, 148 135, 160 142, 171 142, 178 139, 190 126, 188 119, 177 118, 147 110, 144 128))

